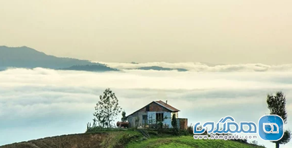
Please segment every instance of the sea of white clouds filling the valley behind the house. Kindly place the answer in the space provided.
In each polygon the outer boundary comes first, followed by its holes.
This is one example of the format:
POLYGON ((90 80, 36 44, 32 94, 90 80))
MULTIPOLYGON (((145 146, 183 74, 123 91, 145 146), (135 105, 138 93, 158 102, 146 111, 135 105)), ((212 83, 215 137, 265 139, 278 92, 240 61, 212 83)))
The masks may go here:
MULTIPOLYGON (((288 114, 292 114, 289 65, 105 64, 123 71, 94 73, 43 68, 1 71, 0 145, 85 132, 86 124, 92 122, 99 95, 106 88, 116 93, 127 114, 153 100, 167 100, 181 110, 179 117, 188 118, 189 125, 217 122, 227 115, 238 123, 257 123, 259 117, 269 113, 266 95, 276 91, 286 94, 288 114), (144 66, 189 71, 127 70, 144 66)), ((286 128, 292 128, 291 122, 292 116, 288 116, 286 128)), ((259 138, 257 141, 274 148, 270 142, 259 138)), ((282 148, 292 148, 292 144, 282 148)))

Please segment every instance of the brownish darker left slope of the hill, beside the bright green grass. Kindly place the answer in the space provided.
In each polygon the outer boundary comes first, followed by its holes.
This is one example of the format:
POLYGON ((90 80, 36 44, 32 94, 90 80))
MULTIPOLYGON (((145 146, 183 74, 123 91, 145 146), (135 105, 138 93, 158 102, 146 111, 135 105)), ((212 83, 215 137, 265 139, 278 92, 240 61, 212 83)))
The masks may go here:
POLYGON ((47 137, 0 148, 125 148, 129 139, 141 134, 136 131, 107 131, 47 137))

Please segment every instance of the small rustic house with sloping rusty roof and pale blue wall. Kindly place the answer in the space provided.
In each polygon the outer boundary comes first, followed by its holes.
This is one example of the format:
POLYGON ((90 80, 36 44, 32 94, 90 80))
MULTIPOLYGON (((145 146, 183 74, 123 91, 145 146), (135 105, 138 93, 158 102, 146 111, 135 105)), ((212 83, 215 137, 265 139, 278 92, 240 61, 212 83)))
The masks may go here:
POLYGON ((167 125, 169 128, 172 128, 171 121, 172 116, 175 114, 177 118, 178 127, 180 129, 187 128, 187 119, 179 118, 178 109, 170 106, 169 104, 164 103, 163 101, 153 101, 141 108, 138 111, 135 111, 127 116, 129 127, 140 127, 146 125, 153 125, 157 122, 162 122, 164 125, 167 125), (137 118, 139 121, 137 122, 137 118), (136 122, 135 122, 136 120, 136 122), (138 125, 136 125, 136 123, 138 125))

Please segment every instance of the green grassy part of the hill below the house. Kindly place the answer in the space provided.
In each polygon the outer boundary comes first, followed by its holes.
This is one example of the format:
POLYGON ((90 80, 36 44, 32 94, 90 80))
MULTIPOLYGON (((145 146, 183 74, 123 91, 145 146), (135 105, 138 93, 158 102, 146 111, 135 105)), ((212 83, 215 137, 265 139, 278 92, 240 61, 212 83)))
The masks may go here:
POLYGON ((145 138, 143 134, 135 130, 104 132, 110 134, 102 144, 105 148, 264 148, 232 140, 195 140, 192 135, 153 135, 153 131, 150 138, 145 138))

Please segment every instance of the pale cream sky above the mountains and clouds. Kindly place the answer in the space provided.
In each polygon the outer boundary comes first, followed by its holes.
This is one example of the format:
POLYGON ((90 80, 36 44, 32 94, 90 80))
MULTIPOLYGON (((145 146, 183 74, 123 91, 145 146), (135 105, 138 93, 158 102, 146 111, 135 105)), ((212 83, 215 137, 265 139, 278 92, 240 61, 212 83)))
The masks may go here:
POLYGON ((0 45, 105 62, 292 63, 292 0, 0 0, 0 45))

